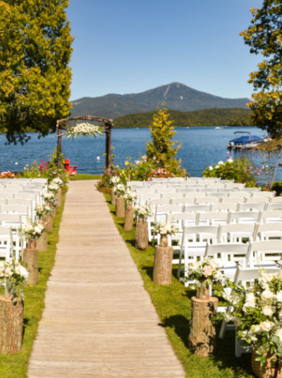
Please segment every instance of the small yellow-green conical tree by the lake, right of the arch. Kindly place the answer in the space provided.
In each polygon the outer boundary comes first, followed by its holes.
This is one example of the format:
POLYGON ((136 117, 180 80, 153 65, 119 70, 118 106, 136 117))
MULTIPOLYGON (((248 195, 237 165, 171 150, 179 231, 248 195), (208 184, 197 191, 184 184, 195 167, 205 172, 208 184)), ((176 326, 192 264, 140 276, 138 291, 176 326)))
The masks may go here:
POLYGON ((173 121, 168 121, 168 117, 168 109, 160 109, 153 114, 153 121, 149 126, 152 142, 147 142, 147 158, 179 176, 184 173, 184 170, 180 170, 181 159, 176 159, 181 145, 177 145, 178 140, 171 140, 176 130, 171 125, 173 121))

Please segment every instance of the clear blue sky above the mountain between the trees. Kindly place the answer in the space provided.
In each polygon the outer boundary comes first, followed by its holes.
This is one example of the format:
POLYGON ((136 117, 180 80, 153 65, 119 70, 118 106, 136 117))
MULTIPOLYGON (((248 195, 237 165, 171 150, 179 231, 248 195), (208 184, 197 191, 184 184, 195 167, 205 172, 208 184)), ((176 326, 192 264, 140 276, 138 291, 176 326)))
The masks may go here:
POLYGON ((71 100, 137 93, 178 81, 249 97, 250 54, 239 32, 262 0, 70 0, 71 100))

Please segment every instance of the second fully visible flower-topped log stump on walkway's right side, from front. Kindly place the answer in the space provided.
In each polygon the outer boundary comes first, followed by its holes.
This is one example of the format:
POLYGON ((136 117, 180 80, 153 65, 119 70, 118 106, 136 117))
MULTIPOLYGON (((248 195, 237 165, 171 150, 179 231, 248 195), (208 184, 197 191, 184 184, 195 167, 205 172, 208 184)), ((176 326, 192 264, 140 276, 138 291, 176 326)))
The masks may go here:
POLYGON ((174 224, 157 222, 153 233, 160 235, 160 243, 155 246, 153 281, 159 285, 170 285, 172 281, 173 247, 168 246, 168 235, 176 233, 174 224))

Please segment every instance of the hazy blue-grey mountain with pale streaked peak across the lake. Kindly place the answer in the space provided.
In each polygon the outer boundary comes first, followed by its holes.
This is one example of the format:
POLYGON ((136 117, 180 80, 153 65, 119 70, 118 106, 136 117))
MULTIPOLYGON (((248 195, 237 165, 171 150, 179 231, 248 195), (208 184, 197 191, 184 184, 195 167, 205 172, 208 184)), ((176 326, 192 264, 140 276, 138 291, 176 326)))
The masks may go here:
POLYGON ((93 115, 114 119, 125 114, 154 111, 162 104, 168 109, 192 111, 211 108, 245 108, 247 102, 250 102, 250 99, 226 99, 200 92, 181 83, 171 83, 141 93, 82 97, 73 101, 71 115, 93 115))

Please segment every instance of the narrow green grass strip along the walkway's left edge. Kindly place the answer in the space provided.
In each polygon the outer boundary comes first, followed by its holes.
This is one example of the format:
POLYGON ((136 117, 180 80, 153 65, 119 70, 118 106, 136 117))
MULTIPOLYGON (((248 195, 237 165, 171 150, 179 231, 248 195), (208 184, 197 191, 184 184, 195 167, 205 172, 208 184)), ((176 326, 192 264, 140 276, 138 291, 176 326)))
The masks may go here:
POLYGON ((59 240, 59 226, 66 195, 62 197, 62 206, 58 208, 54 217, 53 231, 48 232, 48 248, 45 252, 39 252, 38 284, 23 289, 25 295, 24 324, 23 324, 23 348, 18 353, 11 355, 0 354, 1 378, 26 378, 27 364, 32 352, 33 341, 37 335, 39 320, 44 309, 44 296, 47 281, 54 265, 56 243, 59 240))

